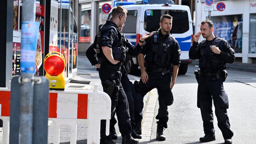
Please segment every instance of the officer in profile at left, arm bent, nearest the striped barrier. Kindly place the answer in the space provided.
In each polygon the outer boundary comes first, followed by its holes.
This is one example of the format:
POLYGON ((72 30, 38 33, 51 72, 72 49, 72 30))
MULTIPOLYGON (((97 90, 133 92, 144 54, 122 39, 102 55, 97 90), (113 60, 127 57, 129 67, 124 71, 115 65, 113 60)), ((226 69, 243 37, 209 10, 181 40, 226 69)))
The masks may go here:
MULTIPOLYGON (((107 22, 99 29, 97 34, 97 57, 100 63, 99 75, 103 91, 111 98, 111 116, 116 111, 119 130, 122 134, 123 144, 138 143, 138 139, 131 136, 127 97, 121 84, 121 65, 125 60, 125 48, 121 47, 122 36, 118 27, 126 20, 127 10, 122 6, 116 6, 112 10, 112 21, 107 22), (116 110, 115 110, 116 109, 116 110)), ((100 143, 114 143, 105 134, 106 123, 101 121, 100 143)))

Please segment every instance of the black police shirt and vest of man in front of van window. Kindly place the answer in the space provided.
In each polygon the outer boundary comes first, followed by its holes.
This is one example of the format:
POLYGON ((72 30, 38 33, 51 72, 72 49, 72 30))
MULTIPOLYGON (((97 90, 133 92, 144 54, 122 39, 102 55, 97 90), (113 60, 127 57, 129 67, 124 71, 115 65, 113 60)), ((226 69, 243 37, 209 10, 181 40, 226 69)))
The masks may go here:
POLYGON ((163 35, 159 31, 156 43, 154 43, 154 35, 145 40, 146 44, 140 53, 146 55, 147 68, 170 68, 171 64, 180 66, 180 45, 170 35, 170 32, 167 35, 163 35))

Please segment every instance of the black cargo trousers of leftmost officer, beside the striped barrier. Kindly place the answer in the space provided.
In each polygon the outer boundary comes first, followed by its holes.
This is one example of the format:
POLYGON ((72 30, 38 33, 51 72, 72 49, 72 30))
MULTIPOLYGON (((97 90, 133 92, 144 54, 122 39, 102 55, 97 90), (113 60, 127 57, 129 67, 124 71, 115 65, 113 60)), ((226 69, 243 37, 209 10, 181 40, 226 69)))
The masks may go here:
MULTIPOLYGON (((129 107, 128 107, 128 100, 126 97, 126 94, 124 92, 124 88, 121 84, 121 72, 120 67, 114 67, 111 66, 105 66, 104 64, 100 65, 99 69, 99 75, 100 75, 100 80, 103 86, 103 91, 104 90, 104 82, 106 80, 113 81, 115 80, 116 85, 119 86, 119 92, 118 92, 118 100, 117 104, 113 102, 113 98, 111 98, 111 117, 114 116, 114 113, 116 112, 116 116, 118 119, 118 126, 119 126, 119 131, 123 136, 131 137, 131 132, 132 132, 132 127, 131 127, 131 122, 130 122, 130 115, 129 115, 129 107), (114 78, 114 79, 113 79, 114 78)), ((100 137, 101 139, 106 138, 106 120, 101 120, 100 123, 100 137)))

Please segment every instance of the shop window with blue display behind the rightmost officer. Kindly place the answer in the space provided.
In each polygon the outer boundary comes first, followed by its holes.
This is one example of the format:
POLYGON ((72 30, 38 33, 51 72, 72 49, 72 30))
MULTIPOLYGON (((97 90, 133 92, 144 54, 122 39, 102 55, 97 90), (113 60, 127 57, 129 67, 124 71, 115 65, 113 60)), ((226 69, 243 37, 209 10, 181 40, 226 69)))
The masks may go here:
POLYGON ((243 15, 213 16, 214 35, 228 41, 236 53, 242 53, 243 15))

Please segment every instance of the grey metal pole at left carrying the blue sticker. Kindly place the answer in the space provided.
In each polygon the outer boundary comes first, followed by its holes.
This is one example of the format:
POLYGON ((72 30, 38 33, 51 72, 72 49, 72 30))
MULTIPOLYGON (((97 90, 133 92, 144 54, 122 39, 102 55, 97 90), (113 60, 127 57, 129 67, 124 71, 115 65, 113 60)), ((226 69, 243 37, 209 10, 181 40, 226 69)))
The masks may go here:
MULTIPOLYGON (((35 21, 36 1, 22 0, 22 21, 35 21)), ((22 28, 23 29, 23 28, 22 28)), ((22 51, 22 47, 21 47, 22 51)), ((22 57, 22 55, 21 55, 22 57)), ((22 58, 21 58, 22 59, 22 58)), ((34 74, 20 73, 19 144, 32 144, 34 74)))

